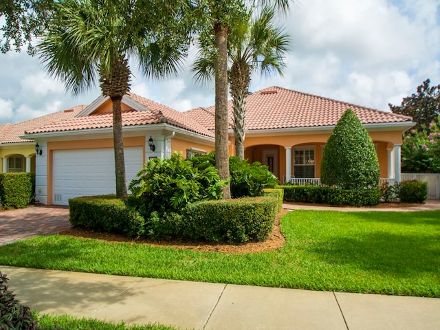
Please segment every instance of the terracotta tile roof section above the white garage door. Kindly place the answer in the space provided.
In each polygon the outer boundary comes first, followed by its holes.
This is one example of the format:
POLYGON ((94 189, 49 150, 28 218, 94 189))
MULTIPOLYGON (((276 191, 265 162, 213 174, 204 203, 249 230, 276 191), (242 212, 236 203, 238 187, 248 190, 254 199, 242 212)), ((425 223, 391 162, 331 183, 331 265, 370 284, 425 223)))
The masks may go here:
MULTIPOLYGON (((181 129, 186 129, 201 135, 214 137, 214 134, 192 120, 188 115, 165 107, 135 94, 128 94, 129 98, 142 104, 149 111, 128 110, 122 111, 122 126, 137 126, 146 124, 167 123, 181 129)), ((103 129, 113 126, 112 113, 91 113, 82 117, 71 118, 42 126, 39 129, 26 131, 26 133, 49 133, 62 131, 78 131, 82 129, 103 129)))

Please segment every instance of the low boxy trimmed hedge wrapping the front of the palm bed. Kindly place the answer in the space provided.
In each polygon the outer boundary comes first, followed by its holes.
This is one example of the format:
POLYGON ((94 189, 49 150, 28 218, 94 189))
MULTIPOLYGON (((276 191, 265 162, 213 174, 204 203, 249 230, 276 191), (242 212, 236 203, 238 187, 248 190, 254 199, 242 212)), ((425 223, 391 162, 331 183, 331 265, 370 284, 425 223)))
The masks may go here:
MULTIPOLYGON (((279 190, 279 189, 274 189, 279 190)), ((263 197, 190 203, 181 211, 152 212, 144 219, 114 195, 69 199, 72 225, 151 239, 192 239, 245 243, 267 239, 274 228, 282 192, 263 197)))

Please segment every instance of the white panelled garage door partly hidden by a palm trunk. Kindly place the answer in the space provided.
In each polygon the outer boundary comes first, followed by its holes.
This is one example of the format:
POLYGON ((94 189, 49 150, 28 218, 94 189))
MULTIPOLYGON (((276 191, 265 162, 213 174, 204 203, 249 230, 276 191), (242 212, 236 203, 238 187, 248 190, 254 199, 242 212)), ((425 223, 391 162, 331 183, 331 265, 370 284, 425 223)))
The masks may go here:
MULTIPOLYGON (((127 185, 143 167, 142 147, 124 148, 127 185)), ((69 198, 116 193, 113 148, 54 151, 52 201, 68 205, 69 198)))

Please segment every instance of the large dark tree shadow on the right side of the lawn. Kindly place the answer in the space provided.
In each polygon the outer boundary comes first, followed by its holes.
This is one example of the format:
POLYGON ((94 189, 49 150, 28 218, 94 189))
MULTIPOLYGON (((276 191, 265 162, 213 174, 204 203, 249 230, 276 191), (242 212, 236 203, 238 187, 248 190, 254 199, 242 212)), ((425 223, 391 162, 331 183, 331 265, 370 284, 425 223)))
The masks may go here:
POLYGON ((355 238, 335 237, 327 244, 314 245, 310 252, 327 263, 353 265, 392 276, 414 276, 414 272, 438 275, 440 265, 439 236, 423 233, 375 232, 355 238))

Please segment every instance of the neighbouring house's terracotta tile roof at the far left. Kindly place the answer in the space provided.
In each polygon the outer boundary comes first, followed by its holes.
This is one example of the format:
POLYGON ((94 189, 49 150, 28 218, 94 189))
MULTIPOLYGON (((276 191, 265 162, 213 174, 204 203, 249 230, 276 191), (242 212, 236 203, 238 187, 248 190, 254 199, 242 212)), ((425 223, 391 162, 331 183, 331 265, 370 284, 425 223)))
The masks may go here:
POLYGON ((41 126, 63 122, 63 120, 67 120, 77 115, 84 107, 85 106, 80 105, 78 107, 73 107, 63 111, 58 111, 56 113, 50 113, 49 115, 43 115, 31 120, 26 120, 25 122, 1 125, 0 144, 30 142, 32 140, 23 140, 20 138, 20 135, 23 135, 25 131, 31 131, 41 126))

